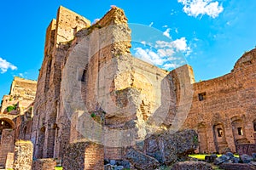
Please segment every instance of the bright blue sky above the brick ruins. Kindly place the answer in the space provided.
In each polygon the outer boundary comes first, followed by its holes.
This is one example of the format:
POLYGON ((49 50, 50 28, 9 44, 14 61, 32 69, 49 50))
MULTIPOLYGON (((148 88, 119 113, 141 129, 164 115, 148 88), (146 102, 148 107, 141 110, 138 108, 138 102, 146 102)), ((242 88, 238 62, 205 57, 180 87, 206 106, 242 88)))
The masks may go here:
MULTIPOLYGON (((124 8, 129 23, 151 26, 172 38, 168 44, 193 66, 196 81, 229 73, 236 60, 256 46, 255 0, 3 1, 0 96, 9 93, 14 76, 38 78, 45 30, 60 5, 91 21, 102 18, 111 5, 124 8)), ((150 57, 145 49, 132 51, 150 57)))

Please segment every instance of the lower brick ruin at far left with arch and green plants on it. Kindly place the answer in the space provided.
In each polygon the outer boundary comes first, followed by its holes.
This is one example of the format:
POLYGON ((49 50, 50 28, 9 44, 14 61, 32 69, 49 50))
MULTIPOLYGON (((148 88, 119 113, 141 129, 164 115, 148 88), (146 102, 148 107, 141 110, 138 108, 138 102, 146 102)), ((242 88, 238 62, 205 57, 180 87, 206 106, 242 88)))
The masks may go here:
POLYGON ((31 139, 36 89, 36 81, 15 77, 9 95, 3 96, 0 110, 0 166, 13 166, 15 140, 31 139))

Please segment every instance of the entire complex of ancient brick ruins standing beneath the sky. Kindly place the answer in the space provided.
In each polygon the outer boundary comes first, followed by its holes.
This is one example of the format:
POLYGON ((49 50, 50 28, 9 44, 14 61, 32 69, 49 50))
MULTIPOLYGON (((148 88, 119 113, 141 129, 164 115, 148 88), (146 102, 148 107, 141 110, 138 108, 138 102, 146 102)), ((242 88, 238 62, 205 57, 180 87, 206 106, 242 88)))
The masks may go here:
POLYGON ((191 151, 256 151, 256 48, 202 82, 189 65, 165 71, 130 48, 122 9, 91 25, 60 7, 38 82, 15 77, 3 96, 0 166, 53 169, 57 160, 64 169, 104 169, 114 160, 153 169, 191 151))

